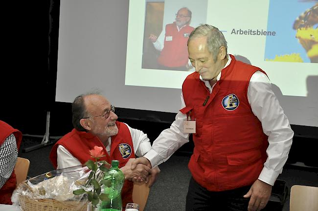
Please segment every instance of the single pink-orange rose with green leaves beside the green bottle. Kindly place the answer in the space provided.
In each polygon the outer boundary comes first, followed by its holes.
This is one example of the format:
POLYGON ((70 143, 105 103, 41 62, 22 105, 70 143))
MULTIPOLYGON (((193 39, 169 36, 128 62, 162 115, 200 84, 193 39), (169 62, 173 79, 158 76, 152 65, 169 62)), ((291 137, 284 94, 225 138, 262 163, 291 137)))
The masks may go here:
POLYGON ((105 193, 101 192, 101 186, 106 184, 104 180, 104 174, 110 169, 110 164, 106 161, 99 161, 101 157, 106 156, 103 152, 102 147, 95 146, 90 150, 91 157, 94 158, 95 162, 88 160, 85 165, 91 169, 91 173, 87 182, 83 185, 84 188, 74 190, 73 194, 81 195, 87 193, 88 200, 91 202, 92 208, 95 208, 96 205, 103 200, 106 200, 108 196, 105 193))

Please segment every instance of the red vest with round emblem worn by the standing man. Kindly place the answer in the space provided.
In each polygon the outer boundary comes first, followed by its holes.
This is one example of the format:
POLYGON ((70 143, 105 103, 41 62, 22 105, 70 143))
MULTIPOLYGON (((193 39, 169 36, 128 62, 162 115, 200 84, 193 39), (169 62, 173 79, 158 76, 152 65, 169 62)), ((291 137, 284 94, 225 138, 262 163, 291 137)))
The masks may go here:
POLYGON ((193 178, 210 191, 251 185, 267 159, 268 137, 247 97, 250 77, 262 70, 230 56, 232 61, 211 94, 197 72, 182 84, 186 107, 180 111, 190 111, 191 119, 196 119, 195 148, 188 167, 193 178))

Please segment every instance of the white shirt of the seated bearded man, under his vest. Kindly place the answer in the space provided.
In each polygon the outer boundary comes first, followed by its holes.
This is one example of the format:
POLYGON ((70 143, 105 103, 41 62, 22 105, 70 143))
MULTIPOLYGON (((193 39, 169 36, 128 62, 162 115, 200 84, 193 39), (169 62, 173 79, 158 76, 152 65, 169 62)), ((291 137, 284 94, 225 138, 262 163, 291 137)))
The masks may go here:
MULTIPOLYGON (((128 127, 132 136, 135 155, 137 157, 142 157, 151 149, 151 144, 147 134, 143 133, 141 130, 129 127, 126 123, 125 125, 128 127)), ((112 137, 108 139, 108 145, 106 146, 108 153, 111 151, 111 143, 112 137)), ((57 148, 57 169, 64 169, 78 165, 81 165, 81 162, 75 158, 65 147, 59 145, 57 148)))

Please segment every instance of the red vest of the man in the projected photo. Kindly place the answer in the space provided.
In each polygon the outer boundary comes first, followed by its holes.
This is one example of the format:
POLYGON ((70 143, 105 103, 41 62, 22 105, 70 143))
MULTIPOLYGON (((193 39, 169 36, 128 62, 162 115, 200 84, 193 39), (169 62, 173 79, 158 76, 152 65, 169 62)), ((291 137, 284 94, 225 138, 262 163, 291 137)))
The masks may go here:
POLYGON ((187 42, 193 29, 193 27, 185 25, 178 31, 175 22, 167 24, 164 46, 158 57, 158 63, 167 67, 185 66, 189 60, 187 42))

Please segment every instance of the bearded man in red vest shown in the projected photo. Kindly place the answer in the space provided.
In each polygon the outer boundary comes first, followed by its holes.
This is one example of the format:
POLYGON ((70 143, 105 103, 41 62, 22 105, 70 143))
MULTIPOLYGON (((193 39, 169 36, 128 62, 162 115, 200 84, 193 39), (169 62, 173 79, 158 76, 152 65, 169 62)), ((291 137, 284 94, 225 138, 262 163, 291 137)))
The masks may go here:
POLYGON ((151 34, 149 39, 160 51, 158 69, 183 70, 189 69, 188 49, 186 42, 194 29, 189 26, 191 11, 183 7, 176 14, 176 21, 165 26, 159 38, 151 34))

